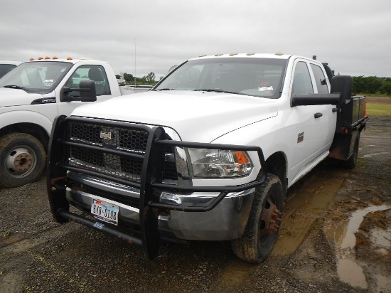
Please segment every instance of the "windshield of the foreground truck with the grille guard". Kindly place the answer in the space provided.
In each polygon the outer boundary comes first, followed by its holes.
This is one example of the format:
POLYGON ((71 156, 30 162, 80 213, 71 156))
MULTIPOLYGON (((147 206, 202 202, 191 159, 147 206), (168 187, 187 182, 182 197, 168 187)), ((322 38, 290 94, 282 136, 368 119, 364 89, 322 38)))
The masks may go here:
POLYGON ((189 60, 154 90, 204 90, 277 98, 285 65, 286 60, 273 58, 189 60))

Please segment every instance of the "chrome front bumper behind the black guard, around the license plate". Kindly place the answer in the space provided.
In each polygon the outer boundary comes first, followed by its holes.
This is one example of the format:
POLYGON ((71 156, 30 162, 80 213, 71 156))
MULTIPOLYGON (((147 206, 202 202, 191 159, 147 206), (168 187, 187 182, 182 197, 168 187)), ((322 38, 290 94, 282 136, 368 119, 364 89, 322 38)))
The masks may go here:
MULTIPOLYGON (((68 178, 80 183, 81 188, 66 188, 66 198, 76 208, 90 213, 92 198, 112 203, 119 207, 119 225, 129 227, 140 223, 139 208, 134 208, 118 201, 110 200, 88 192, 88 190, 104 189, 105 193, 120 193, 124 196, 139 198, 135 188, 107 183, 81 174, 70 172, 68 178)), ((183 213, 169 211, 167 215, 159 215, 158 228, 183 240, 232 240, 239 238, 247 225, 255 188, 228 193, 222 201, 210 211, 183 213)), ((186 206, 208 205, 218 193, 175 194, 175 200, 186 206)), ((171 194, 163 194, 162 201, 168 201, 171 194)), ((106 224, 107 225, 107 224, 106 224)))

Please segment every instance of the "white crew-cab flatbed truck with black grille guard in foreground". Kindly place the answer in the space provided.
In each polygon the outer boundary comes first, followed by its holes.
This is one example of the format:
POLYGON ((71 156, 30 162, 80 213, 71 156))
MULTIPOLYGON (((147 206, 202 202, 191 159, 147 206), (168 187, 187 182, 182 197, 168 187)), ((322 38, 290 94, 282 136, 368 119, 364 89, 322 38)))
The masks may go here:
POLYGON ((368 117, 351 89, 350 76, 296 55, 187 60, 149 92, 56 118, 53 217, 151 259, 160 239, 229 240, 259 263, 277 240, 287 188, 327 157, 355 166, 368 117))

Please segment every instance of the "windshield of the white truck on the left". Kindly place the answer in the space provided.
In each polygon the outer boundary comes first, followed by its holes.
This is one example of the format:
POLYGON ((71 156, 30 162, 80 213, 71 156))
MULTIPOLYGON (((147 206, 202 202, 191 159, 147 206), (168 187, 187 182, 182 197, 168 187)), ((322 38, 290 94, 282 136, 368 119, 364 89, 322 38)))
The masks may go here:
POLYGON ((54 90, 72 65, 72 63, 53 61, 22 63, 0 79, 0 87, 47 94, 54 90))

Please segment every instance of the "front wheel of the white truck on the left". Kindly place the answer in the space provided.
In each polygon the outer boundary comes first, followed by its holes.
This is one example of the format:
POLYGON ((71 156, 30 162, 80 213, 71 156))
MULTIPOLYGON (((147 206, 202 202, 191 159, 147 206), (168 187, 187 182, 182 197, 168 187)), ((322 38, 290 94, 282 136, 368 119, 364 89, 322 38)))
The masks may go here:
POLYGON ((36 181, 45 167, 45 149, 24 133, 0 138, 0 186, 12 188, 36 181))

